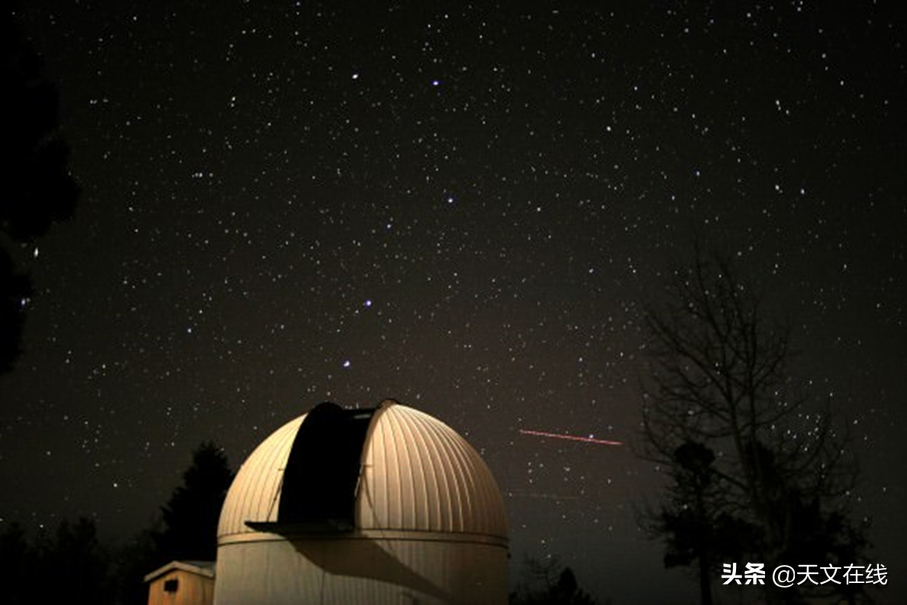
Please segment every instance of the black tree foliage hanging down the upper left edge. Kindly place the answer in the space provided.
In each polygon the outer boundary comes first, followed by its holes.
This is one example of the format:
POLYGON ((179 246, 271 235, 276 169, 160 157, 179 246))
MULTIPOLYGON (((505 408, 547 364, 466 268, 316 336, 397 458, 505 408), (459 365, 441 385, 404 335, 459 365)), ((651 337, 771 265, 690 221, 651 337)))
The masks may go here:
POLYGON ((3 244, 23 246, 54 221, 72 216, 79 188, 67 171, 69 148, 59 135, 56 89, 42 75, 14 11, 0 11, 0 373, 22 350, 31 285, 3 244), (4 241, 6 239, 7 241, 4 241))

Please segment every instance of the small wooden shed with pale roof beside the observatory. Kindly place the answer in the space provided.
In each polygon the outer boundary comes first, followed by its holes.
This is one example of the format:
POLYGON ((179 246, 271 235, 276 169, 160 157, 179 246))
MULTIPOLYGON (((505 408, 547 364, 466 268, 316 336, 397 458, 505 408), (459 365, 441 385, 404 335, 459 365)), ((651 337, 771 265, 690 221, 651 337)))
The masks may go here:
POLYGON ((214 603, 213 561, 171 561, 145 576, 148 605, 214 603))

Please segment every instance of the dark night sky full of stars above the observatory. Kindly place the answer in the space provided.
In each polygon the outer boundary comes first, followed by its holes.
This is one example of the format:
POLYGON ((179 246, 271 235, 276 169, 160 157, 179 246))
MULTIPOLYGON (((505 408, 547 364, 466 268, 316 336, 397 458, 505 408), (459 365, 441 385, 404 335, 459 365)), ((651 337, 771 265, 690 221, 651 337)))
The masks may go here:
POLYGON ((126 536, 202 441, 237 466, 318 402, 391 397, 484 455, 515 572, 693 595, 636 527, 650 465, 520 430, 634 439, 641 311, 698 235, 794 326, 907 598, 896 3, 23 4, 83 193, 17 250, 0 523, 126 536))

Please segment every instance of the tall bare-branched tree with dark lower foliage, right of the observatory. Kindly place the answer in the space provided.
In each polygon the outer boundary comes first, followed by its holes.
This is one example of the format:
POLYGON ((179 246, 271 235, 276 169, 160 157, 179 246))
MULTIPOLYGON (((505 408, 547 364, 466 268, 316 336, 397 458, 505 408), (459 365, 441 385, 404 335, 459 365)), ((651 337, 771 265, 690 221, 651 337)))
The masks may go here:
MULTIPOLYGON (((699 564, 703 603, 720 563, 854 563, 864 528, 849 521, 856 479, 829 407, 788 374, 790 332, 718 253, 676 270, 664 307, 649 309, 640 455, 670 478, 648 514, 667 565, 699 564), (721 455, 716 455, 720 452, 721 455), (728 540, 729 536, 737 538, 728 540), (809 560, 807 560, 809 559, 809 560)), ((795 589, 770 602, 798 599, 795 589)))

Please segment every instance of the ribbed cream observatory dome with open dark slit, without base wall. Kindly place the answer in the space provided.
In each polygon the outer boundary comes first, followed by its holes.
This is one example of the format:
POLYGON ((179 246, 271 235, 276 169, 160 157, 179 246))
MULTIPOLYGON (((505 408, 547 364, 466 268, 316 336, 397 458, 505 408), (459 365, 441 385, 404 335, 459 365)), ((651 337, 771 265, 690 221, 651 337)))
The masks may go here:
POLYGON ((507 537, 498 486, 453 429, 394 401, 321 404, 265 439, 236 475, 218 538, 393 530, 507 537))

